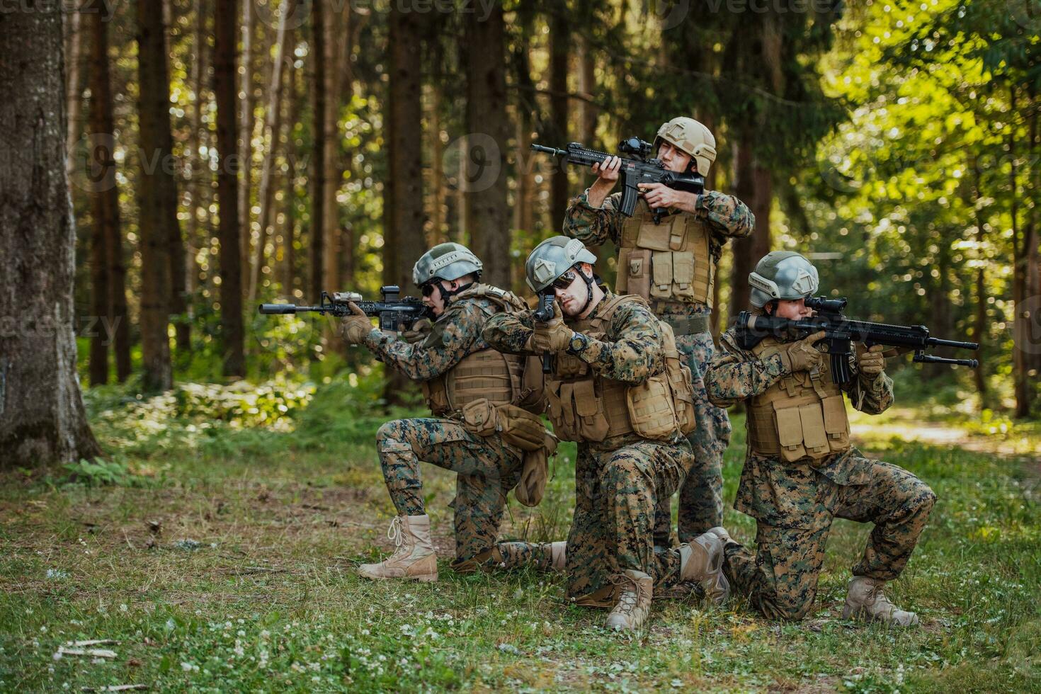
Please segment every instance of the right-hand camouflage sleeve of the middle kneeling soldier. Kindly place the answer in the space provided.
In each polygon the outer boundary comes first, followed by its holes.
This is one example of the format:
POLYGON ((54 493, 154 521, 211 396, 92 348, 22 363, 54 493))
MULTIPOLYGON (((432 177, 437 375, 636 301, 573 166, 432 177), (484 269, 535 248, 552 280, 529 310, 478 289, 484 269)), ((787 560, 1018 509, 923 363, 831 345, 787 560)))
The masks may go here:
POLYGON ((615 309, 607 338, 589 338, 578 354, 604 378, 640 383, 665 369, 658 319, 642 304, 628 303, 615 309))

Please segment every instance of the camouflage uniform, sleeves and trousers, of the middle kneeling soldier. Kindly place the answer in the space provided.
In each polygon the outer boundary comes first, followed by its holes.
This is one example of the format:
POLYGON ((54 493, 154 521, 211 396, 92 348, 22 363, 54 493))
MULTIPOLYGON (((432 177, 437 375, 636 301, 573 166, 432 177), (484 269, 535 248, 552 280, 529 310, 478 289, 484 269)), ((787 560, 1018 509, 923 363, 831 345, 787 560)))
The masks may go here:
MULTIPOLYGON (((590 318, 613 298, 609 290, 590 318)), ((565 323, 574 320, 565 317, 565 323)), ((534 327, 531 312, 500 313, 484 336, 501 352, 526 354, 534 327)), ((600 376, 640 383, 664 369, 658 322, 642 304, 626 303, 613 314, 603 340, 591 340, 578 358, 600 376)), ((677 550, 655 551, 656 500, 668 498, 693 463, 690 444, 679 433, 652 441, 636 433, 578 444, 576 507, 567 536, 567 594, 581 605, 612 607, 612 576, 642 571, 656 585, 679 579, 677 550)))

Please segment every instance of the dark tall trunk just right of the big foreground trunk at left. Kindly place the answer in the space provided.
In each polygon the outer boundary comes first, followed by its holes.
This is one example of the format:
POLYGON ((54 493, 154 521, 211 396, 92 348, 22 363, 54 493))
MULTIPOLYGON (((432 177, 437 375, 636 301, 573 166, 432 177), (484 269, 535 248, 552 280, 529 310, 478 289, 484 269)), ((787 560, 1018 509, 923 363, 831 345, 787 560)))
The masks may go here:
MULTIPOLYGON (((108 74, 108 24, 111 21, 104 3, 84 12, 91 30, 91 184, 94 233, 103 239, 105 310, 99 314, 115 331, 116 378, 122 383, 130 376, 130 322, 127 315, 126 266, 123 261, 123 236, 120 229, 120 191, 116 180, 116 127, 112 123, 111 81, 108 74)), ((96 243, 97 246, 97 243, 96 243)), ((99 256, 100 257, 100 256, 99 256)), ((100 287, 99 287, 100 288, 100 287)), ((96 299, 99 302, 100 298, 96 299)), ((108 339, 108 332, 95 339, 108 339)), ((100 353, 100 348, 94 348, 100 353)), ((105 367, 107 372, 107 366, 105 367)), ((101 368, 97 375, 100 377, 101 368)), ((99 381, 101 382, 101 381, 99 381)))

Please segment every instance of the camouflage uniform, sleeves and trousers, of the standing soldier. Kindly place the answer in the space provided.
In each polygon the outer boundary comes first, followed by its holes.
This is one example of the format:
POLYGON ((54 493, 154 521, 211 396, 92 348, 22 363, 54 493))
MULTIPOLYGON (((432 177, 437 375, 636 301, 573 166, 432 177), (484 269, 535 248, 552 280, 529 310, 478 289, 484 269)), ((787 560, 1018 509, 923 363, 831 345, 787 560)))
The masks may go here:
MULTIPOLYGON (((619 243, 625 220, 617 209, 621 194, 608 196, 600 208, 591 207, 587 196, 588 190, 568 205, 564 234, 580 239, 586 246, 601 246, 608 240, 619 243)), ((707 191, 697 197, 696 210, 695 216, 711 231, 708 236, 713 265, 719 261, 729 237, 748 236, 755 227, 752 211, 733 196, 707 191)), ((635 213, 646 212, 648 205, 641 198, 635 213)), ((711 293, 711 283, 709 287, 711 293)), ((722 454, 730 443, 731 429, 727 412, 713 406, 705 393, 703 375, 715 350, 709 331, 712 308, 696 302, 655 300, 651 301, 651 307, 658 317, 672 326, 677 346, 687 358, 694 389, 697 428, 688 437, 694 452, 694 465, 680 491, 678 523, 680 541, 689 542, 722 523, 722 454)), ((668 544, 670 525, 669 499, 663 496, 659 498, 655 522, 656 544, 668 544)))

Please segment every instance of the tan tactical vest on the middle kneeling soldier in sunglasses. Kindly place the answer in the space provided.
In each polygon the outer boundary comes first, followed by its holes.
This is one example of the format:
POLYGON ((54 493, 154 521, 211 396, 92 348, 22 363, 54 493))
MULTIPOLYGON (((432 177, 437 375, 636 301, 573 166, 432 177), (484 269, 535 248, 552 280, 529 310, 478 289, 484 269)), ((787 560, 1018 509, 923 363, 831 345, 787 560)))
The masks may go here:
MULTIPOLYGON (((640 297, 604 299, 595 317, 570 324, 588 337, 603 340, 614 312, 640 297)), ((565 441, 599 442, 621 434, 656 440, 670 439, 678 431, 694 427, 690 369, 680 362, 676 339, 668 325, 659 322, 664 337, 666 368, 642 383, 628 384, 606 379, 577 356, 558 353, 553 374, 547 376, 545 394, 554 433, 565 441)))

